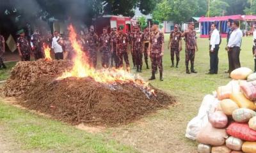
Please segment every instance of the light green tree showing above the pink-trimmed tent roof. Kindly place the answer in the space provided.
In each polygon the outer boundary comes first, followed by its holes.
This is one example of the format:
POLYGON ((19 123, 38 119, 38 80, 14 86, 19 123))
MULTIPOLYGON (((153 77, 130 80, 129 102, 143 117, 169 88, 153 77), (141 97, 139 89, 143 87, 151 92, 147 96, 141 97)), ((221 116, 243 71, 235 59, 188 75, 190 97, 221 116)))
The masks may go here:
MULTIPOLYGON (((210 3, 210 17, 219 17, 225 15, 225 12, 227 12, 228 7, 228 3, 222 0, 212 1, 210 3)), ((206 16, 208 16, 208 11, 206 16)))

